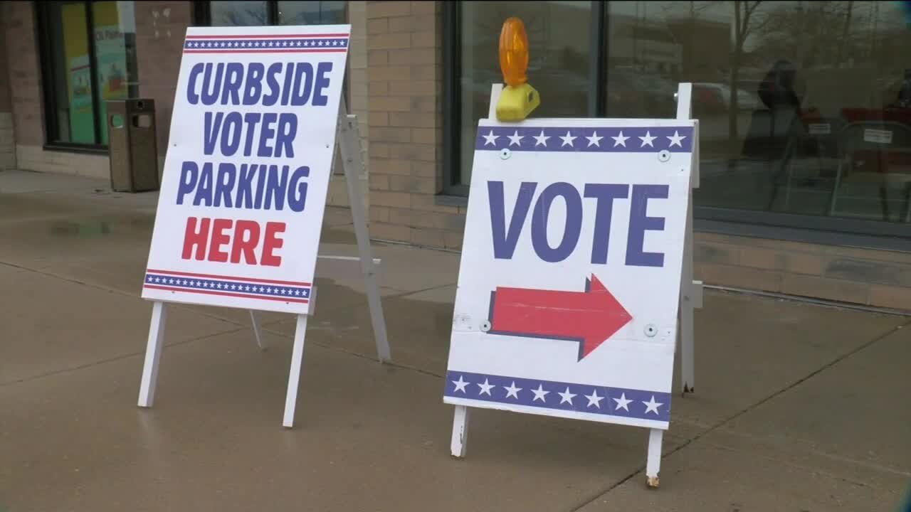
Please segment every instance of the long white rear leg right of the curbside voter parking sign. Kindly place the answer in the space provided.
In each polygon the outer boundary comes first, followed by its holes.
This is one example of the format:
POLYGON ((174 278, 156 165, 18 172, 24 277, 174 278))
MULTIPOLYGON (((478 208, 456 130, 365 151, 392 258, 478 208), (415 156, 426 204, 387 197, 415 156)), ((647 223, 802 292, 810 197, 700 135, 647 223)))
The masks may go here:
POLYGON ((344 178, 348 185, 348 202, 351 205, 351 215, 354 222, 354 236, 357 239, 364 289, 367 292, 367 303, 370 307, 370 323, 374 328, 376 353, 381 362, 390 363, 393 357, 389 350, 389 340, 386 338, 383 302, 380 301, 380 291, 376 284, 374 257, 370 250, 370 234, 367 232, 367 220, 363 212, 361 187, 358 180, 363 166, 363 159, 361 157, 360 141, 357 138, 357 117, 345 115, 344 105, 341 111, 342 116, 339 118, 339 149, 342 151, 344 178))

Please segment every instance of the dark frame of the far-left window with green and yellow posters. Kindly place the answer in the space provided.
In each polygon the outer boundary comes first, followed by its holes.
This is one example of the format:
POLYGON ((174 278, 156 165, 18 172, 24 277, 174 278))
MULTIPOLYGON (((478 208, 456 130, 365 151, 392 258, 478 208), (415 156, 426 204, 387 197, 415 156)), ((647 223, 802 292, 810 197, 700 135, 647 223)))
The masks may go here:
MULTIPOLYGON (((41 73, 41 99, 43 103, 44 118, 44 135, 45 143, 42 146, 45 149, 65 150, 74 153, 93 153, 106 154, 108 145, 100 142, 91 144, 80 142, 65 142, 56 140, 60 138, 60 126, 56 118, 57 99, 54 89, 53 77, 55 76, 53 55, 53 38, 51 36, 50 16, 51 9, 62 2, 34 2, 33 14, 35 15, 36 39, 38 41, 38 61, 39 71, 41 73)), ((107 119, 101 118, 101 97, 98 90, 97 77, 97 56, 95 49, 95 16, 93 14, 91 0, 81 2, 86 9, 86 37, 88 42, 88 67, 89 80, 92 86, 92 118, 95 129, 95 140, 101 140, 101 123, 107 122, 107 119)))

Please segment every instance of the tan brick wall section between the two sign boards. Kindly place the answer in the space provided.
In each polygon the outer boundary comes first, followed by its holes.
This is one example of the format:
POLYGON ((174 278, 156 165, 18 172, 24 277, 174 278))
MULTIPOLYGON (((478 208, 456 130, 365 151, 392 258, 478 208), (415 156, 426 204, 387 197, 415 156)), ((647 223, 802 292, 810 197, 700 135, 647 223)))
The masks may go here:
POLYGON ((462 244, 465 209, 442 184, 440 2, 367 2, 370 233, 431 247, 462 244))

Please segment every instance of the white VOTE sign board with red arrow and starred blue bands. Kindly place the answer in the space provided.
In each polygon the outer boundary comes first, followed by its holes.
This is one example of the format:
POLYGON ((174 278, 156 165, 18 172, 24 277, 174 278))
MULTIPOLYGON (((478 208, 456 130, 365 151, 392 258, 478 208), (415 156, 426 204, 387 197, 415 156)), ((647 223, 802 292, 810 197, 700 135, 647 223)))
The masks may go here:
POLYGON ((481 120, 445 403, 668 427, 694 132, 481 120))

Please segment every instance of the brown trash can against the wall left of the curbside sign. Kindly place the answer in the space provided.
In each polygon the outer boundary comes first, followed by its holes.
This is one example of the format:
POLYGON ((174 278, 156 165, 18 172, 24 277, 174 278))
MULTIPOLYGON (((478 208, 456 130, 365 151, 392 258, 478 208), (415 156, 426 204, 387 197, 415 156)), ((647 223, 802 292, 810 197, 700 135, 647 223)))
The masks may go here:
POLYGON ((107 102, 111 189, 117 192, 159 189, 155 136, 155 100, 135 98, 107 102))

